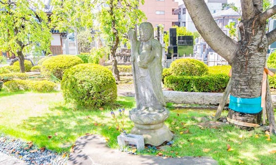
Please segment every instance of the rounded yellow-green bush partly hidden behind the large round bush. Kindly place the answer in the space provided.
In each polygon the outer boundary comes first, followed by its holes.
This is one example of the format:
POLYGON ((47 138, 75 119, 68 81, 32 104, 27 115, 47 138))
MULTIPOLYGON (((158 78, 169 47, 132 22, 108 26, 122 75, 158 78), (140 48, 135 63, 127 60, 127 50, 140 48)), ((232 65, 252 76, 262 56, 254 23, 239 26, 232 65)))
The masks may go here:
POLYGON ((83 60, 75 55, 51 56, 42 62, 41 73, 44 76, 50 76, 52 73, 61 80, 66 69, 81 63, 83 60))

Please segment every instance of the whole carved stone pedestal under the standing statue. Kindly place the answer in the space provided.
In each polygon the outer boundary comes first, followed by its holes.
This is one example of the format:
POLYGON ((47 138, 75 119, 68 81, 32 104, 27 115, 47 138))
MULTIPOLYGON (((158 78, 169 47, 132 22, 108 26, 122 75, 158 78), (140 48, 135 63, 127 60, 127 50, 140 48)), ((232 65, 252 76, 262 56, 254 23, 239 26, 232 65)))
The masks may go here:
POLYGON ((170 129, 164 125, 169 117, 167 109, 158 111, 137 110, 129 111, 129 118, 134 123, 131 133, 143 135, 145 144, 159 146, 172 139, 170 129))

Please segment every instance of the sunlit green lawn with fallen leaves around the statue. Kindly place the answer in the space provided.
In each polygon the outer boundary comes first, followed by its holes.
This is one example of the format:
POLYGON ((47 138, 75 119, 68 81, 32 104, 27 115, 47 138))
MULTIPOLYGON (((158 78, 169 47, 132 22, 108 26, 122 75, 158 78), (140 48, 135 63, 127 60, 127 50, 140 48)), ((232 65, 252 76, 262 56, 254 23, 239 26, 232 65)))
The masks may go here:
MULTIPOLYGON (((0 132, 32 141, 37 147, 69 152, 79 136, 101 134, 108 145, 118 147, 116 125, 110 111, 134 107, 133 97, 118 97, 116 105, 104 110, 88 110, 64 104, 62 93, 15 93, 0 95, 0 132)), ((172 108, 172 105, 169 104, 172 108)), ((201 128, 192 116, 214 115, 213 110, 171 110, 166 125, 174 133, 174 144, 167 150, 149 150, 139 154, 172 156, 211 156, 219 164, 264 164, 276 162, 276 136, 270 141, 258 129, 245 131, 231 125, 222 128, 201 128), (227 151, 227 145, 233 149, 227 151)), ((223 115, 226 115, 224 112, 223 115)), ((126 114, 127 115, 127 114, 126 114)), ((127 132, 133 127, 126 117, 127 132)))

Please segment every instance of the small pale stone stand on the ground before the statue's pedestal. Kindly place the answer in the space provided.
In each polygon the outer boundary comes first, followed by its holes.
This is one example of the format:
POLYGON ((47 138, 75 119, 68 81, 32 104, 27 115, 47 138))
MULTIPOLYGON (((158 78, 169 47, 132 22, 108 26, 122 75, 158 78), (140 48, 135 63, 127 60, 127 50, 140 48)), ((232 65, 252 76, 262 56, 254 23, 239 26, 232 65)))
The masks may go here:
POLYGON ((145 149, 144 137, 136 134, 120 134, 117 136, 118 145, 120 147, 126 147, 128 144, 136 145, 138 151, 145 149))

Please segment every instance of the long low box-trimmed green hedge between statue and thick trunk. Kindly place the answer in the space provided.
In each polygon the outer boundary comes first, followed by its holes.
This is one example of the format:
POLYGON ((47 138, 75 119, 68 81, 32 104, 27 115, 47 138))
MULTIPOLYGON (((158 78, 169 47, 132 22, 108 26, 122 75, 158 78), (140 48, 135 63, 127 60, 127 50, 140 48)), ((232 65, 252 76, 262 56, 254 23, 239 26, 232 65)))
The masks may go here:
POLYGON ((210 74, 205 76, 175 76, 165 77, 164 85, 174 91, 183 92, 223 92, 229 81, 225 74, 210 74))

